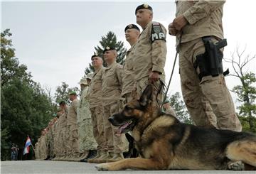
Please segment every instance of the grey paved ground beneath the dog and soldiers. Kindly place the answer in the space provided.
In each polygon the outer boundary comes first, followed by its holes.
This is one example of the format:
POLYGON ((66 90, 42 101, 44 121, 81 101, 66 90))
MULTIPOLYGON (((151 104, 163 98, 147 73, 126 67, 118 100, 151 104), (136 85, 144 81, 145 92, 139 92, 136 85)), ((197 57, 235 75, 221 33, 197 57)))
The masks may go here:
POLYGON ((158 171, 143 171, 143 170, 124 170, 117 172, 99 172, 95 169, 95 164, 64 162, 64 161, 1 161, 1 173, 254 173, 256 171, 196 171, 196 170, 158 170, 158 171))

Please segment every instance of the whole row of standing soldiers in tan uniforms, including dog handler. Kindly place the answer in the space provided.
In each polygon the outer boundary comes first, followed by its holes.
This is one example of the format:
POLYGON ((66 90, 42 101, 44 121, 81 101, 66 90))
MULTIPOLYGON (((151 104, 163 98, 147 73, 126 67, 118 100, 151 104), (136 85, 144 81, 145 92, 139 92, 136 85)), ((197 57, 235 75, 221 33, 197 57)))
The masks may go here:
MULTIPOLYGON (((181 89, 193 122, 198 126, 241 131, 240 121, 225 85, 221 62, 223 49, 218 48, 218 42, 223 39, 224 3, 225 1, 176 1, 176 18, 169 24, 169 34, 177 37, 181 89), (206 49, 207 44, 218 48, 215 49, 215 54, 212 54, 213 50, 206 49), (215 67, 210 65, 210 59, 218 60, 215 61, 215 67), (214 68, 218 69, 218 74, 213 73, 214 68)), ((153 9, 148 4, 138 6, 135 14, 143 31, 140 33, 135 24, 124 28, 126 40, 131 45, 124 66, 116 62, 115 48, 106 47, 103 51, 107 67, 102 66, 103 60, 99 55, 92 55, 95 72, 91 82, 87 82, 90 86, 85 85, 88 101, 85 112, 87 122, 82 122, 82 117, 79 116, 78 108, 85 99, 83 94, 79 104, 76 94, 70 93, 72 104, 69 109, 65 101, 60 102, 60 117, 58 121, 53 120, 55 126, 51 127, 58 127, 62 118, 65 118, 63 120, 66 124, 63 124, 62 131, 57 129, 57 132, 61 133, 56 133, 60 135, 56 138, 56 145, 53 144, 56 159, 78 159, 89 163, 119 161, 124 158, 124 151, 127 151, 127 140, 110 124, 107 120, 109 116, 119 112, 125 103, 138 99, 149 84, 154 85, 154 106, 163 101, 163 91, 160 89, 165 83, 166 28, 161 23, 152 21, 153 9), (79 138, 84 134, 88 135, 85 141, 79 138), (90 147, 82 148, 87 142, 91 143, 90 147)), ((169 114, 175 115, 169 104, 164 106, 167 106, 169 114)), ((40 141, 43 141, 43 138, 39 140, 39 150, 40 141)))

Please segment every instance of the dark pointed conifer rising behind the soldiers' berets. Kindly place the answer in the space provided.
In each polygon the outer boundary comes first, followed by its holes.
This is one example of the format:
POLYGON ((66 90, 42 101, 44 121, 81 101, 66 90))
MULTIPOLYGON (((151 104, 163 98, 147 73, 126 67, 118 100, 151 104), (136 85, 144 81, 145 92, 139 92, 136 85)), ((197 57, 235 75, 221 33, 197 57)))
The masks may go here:
MULTIPOLYGON (((100 40, 100 45, 95 47, 95 53, 97 53, 101 58, 103 58, 103 50, 107 47, 112 47, 117 49, 117 62, 121 65, 124 64, 124 58, 127 52, 127 49, 124 48, 124 42, 117 41, 117 36, 112 32, 109 31, 106 36, 102 36, 102 40, 100 40)), ((107 66, 105 60, 103 59, 103 65, 107 66)), ((85 75, 90 72, 93 72, 92 64, 89 64, 89 67, 85 69, 85 75)))

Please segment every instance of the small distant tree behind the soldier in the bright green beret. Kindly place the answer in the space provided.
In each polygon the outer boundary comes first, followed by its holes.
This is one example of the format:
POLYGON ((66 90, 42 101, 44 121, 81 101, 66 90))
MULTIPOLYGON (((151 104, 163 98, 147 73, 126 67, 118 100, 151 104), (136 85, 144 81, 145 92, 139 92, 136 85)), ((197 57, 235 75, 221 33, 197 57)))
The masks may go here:
POLYGON ((77 92, 77 94, 80 94, 80 89, 78 87, 68 87, 68 84, 66 82, 61 82, 61 85, 57 87, 55 91, 55 102, 58 103, 60 100, 65 100, 66 102, 69 102, 69 93, 71 91, 77 92))

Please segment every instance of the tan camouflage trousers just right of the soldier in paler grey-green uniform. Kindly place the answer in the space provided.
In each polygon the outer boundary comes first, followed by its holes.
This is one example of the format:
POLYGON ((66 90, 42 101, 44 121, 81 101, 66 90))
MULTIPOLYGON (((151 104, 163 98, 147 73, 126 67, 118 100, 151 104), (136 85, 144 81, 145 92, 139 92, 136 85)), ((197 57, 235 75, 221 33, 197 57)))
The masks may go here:
POLYGON ((97 142, 97 150, 103 150, 105 146, 104 124, 103 124, 103 108, 90 108, 92 114, 92 132, 97 142))

